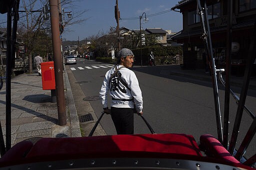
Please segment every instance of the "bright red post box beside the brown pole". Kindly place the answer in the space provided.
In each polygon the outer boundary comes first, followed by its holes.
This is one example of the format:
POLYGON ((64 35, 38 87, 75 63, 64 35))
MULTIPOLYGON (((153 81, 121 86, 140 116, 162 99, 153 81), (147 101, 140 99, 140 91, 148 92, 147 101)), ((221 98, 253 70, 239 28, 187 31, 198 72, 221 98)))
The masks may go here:
POLYGON ((42 90, 55 89, 55 75, 53 61, 41 63, 42 90))

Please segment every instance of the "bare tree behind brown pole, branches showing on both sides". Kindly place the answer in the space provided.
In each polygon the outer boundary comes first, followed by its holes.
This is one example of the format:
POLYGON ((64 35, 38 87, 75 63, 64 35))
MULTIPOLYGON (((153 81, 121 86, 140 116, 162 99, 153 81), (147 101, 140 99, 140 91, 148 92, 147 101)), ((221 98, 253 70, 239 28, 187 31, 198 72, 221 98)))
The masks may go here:
MULTIPOLYGON (((18 38, 22 40, 27 49, 28 53, 28 72, 32 72, 32 55, 34 53, 45 54, 51 53, 51 38, 46 35, 46 31, 50 30, 50 20, 44 20, 43 7, 47 7, 48 0, 21 0, 20 19, 18 21, 18 38), (22 14, 22 15, 21 15, 22 14), (47 50, 45 50, 47 49, 47 50)), ((60 0, 59 0, 60 1, 60 0)), ((73 6, 72 3, 76 0, 62 0, 61 4, 63 6, 73 6)), ((61 9, 59 9, 61 14, 61 9)), ((68 22, 63 21, 65 26, 70 24, 81 23, 86 18, 81 18, 82 11, 73 11, 72 17, 68 22)), ((62 15, 60 15, 61 17, 62 15)), ((62 18, 60 18, 62 21, 62 18)), ((64 31, 67 29, 64 29, 64 31)))

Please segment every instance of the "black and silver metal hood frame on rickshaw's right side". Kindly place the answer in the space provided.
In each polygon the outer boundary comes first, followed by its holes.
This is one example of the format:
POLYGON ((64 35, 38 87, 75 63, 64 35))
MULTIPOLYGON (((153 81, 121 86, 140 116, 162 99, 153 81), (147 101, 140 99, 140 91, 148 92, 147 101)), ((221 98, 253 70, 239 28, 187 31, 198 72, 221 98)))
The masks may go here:
MULTIPOLYGON (((207 5, 206 5, 206 0, 202 0, 202 3, 204 4, 204 7, 201 7, 201 1, 197 0, 197 9, 198 13, 200 15, 200 22, 201 22, 201 28, 202 28, 202 38, 204 40, 204 45, 206 52, 208 54, 210 62, 210 68, 211 68, 211 75, 212 75, 212 85, 213 85, 213 95, 214 95, 214 104, 215 104, 215 114, 216 114, 216 123, 217 123, 217 134, 218 134, 218 141, 222 143, 222 145, 228 150, 228 152, 231 155, 234 155, 234 157, 237 160, 241 160, 241 157, 244 155, 246 152, 246 149, 251 142, 253 136, 256 133, 256 118, 255 116, 249 111, 249 109, 245 106, 245 99, 247 95, 247 90, 248 90, 248 85, 249 85, 249 80, 251 76, 251 70, 252 70, 252 63, 255 60, 255 53, 256 53, 256 20, 254 23, 254 31, 252 34, 252 41, 249 46, 249 52, 248 52, 248 58, 246 62, 246 67, 244 71, 244 79, 243 79, 243 85, 241 88, 241 93, 240 93, 240 98, 238 98, 230 89, 230 63, 231 63, 231 21, 232 21, 232 0, 228 0, 228 24, 227 24, 227 55, 226 55, 226 74, 225 78, 227 82, 225 83, 223 81, 223 78, 221 76, 221 72, 224 71, 224 69, 216 69, 216 65, 214 63, 214 58, 213 58, 213 52, 212 52, 212 45, 211 45, 211 37, 210 37, 210 29, 209 29, 209 22, 207 17, 207 5), (225 108, 224 108, 224 129, 222 134, 222 125, 221 125, 221 113, 220 113, 220 106, 219 106, 219 98, 218 98, 218 88, 217 88, 217 79, 216 79, 216 73, 219 72, 219 78, 221 83, 225 86, 225 108), (230 139, 229 146, 227 145, 228 142, 228 122, 229 122, 229 93, 232 94, 232 96, 235 98, 238 107, 236 111, 236 116, 235 116, 235 121, 233 125, 233 130, 232 130, 232 135, 230 139), (239 149, 237 152, 235 152, 235 144, 237 141, 237 136, 238 136, 238 131, 241 123, 241 117, 243 110, 245 110, 250 117, 253 119, 253 122, 251 123, 239 149)), ((252 162, 254 160, 255 163, 255 157, 256 155, 252 156, 249 158, 248 162, 252 162)), ((248 163, 247 162, 247 163, 248 163)))

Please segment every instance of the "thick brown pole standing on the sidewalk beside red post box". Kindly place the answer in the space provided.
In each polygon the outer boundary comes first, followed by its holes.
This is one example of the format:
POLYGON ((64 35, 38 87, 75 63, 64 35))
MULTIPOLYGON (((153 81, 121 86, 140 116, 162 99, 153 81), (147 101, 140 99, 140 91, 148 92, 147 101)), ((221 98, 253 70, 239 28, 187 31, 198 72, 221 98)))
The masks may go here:
MULTIPOLYGON (((55 89, 57 99, 58 124, 60 126, 66 125, 66 109, 63 83, 63 66, 60 50, 60 34, 59 34, 59 10, 58 0, 49 0, 50 4, 50 24, 51 24, 51 38, 53 48, 53 63, 55 74, 55 89)), ((60 10, 61 11, 61 10, 60 10)))

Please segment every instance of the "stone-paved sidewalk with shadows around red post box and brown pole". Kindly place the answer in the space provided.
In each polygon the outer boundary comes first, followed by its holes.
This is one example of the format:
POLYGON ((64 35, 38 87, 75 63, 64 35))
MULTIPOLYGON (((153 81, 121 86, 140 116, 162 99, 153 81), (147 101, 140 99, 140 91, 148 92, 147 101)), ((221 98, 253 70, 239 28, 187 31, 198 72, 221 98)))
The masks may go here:
MULTIPOLYGON (((0 121, 5 141, 5 83, 0 90, 0 121)), ((21 74, 11 79, 11 146, 33 137, 80 137, 71 88, 64 70, 67 124, 58 126, 57 105, 41 76, 21 74)))

